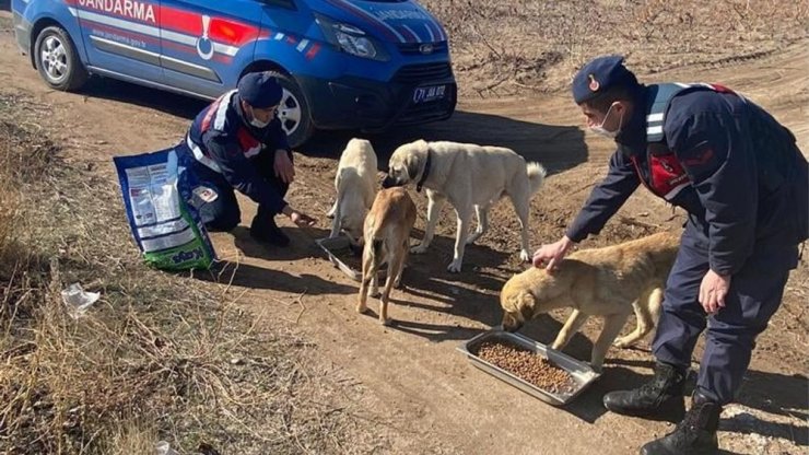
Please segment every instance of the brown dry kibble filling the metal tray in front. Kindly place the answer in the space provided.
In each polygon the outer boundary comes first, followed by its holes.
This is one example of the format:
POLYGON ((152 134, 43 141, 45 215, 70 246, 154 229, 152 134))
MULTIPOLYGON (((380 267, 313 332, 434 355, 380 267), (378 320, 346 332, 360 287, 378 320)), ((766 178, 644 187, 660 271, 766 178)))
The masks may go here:
POLYGON ((485 341, 478 349, 478 357, 543 390, 568 394, 576 386, 566 371, 553 365, 541 355, 509 342, 485 341))

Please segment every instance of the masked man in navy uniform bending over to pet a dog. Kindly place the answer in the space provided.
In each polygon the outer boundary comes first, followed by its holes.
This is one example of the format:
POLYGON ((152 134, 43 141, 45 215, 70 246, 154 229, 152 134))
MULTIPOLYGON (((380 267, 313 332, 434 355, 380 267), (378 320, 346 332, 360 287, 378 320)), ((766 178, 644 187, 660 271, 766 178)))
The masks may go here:
POLYGON ((538 249, 534 264, 553 271, 640 185, 688 212, 653 345, 655 377, 603 404, 628 416, 684 413, 642 454, 716 453, 722 407, 735 399, 809 235, 807 161, 792 132, 749 100, 712 84, 640 84, 621 57, 582 68, 573 97, 589 128, 618 150, 566 235, 538 249), (685 413, 683 383, 706 327, 685 413))

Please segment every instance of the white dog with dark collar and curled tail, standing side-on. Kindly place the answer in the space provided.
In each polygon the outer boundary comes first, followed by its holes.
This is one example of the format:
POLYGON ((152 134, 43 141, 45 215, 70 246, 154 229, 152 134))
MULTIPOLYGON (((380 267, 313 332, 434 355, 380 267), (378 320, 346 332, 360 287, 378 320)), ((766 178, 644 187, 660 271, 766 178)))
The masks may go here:
POLYGON ((457 142, 407 143, 394 152, 388 163, 388 176, 383 187, 417 183, 417 190, 426 188, 427 225, 421 244, 411 249, 424 253, 435 233, 438 214, 446 200, 458 215, 455 254, 447 267, 460 271, 466 244, 474 243, 488 229, 489 208, 508 195, 521 225, 519 257, 528 261, 528 213, 531 195, 544 180, 546 170, 539 163, 527 163, 513 150, 457 142), (469 236, 472 211, 478 217, 478 229, 469 236))

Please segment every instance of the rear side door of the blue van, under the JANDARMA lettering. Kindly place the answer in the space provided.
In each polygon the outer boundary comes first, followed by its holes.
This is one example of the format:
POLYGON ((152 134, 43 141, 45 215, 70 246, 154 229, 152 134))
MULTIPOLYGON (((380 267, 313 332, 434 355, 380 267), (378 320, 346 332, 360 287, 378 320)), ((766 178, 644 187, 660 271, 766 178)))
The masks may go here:
POLYGON ((159 0, 70 0, 94 72, 163 82, 159 0))

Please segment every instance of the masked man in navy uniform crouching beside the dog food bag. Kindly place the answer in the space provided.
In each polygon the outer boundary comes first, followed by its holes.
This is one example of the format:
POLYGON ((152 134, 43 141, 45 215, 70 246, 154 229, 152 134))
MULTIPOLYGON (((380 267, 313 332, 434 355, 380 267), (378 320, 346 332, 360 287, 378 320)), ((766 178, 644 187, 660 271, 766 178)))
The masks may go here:
POLYGON ((283 90, 267 72, 246 74, 231 91, 206 107, 191 124, 179 155, 206 191, 199 209, 211 231, 231 231, 242 220, 234 188, 258 203, 250 235, 286 246, 290 238, 275 224, 283 213, 298 226, 314 225, 284 196, 295 177, 286 133, 277 117, 283 90))

